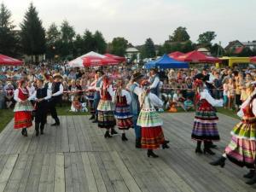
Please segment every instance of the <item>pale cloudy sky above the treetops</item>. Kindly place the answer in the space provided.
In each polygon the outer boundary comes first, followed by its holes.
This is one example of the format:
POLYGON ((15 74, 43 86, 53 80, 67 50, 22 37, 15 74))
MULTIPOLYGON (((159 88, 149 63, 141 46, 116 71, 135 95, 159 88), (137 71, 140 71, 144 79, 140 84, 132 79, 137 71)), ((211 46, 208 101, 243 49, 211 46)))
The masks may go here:
MULTIPOLYGON (((1 2, 1 0, 0 0, 1 2)), ((217 33, 215 43, 256 40, 255 0, 2 0, 19 28, 29 3, 36 6, 47 29, 68 20, 78 33, 99 30, 111 42, 124 37, 131 44, 164 44, 178 26, 192 41, 202 32, 217 33)))

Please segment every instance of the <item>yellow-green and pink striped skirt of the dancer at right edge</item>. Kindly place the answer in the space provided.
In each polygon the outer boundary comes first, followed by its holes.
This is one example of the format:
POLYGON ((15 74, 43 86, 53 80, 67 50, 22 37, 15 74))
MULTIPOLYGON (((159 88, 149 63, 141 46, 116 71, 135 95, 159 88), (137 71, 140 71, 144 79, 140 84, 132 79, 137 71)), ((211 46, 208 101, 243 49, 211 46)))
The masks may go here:
POLYGON ((256 163, 256 118, 243 119, 231 131, 225 154, 237 166, 254 168, 256 163))

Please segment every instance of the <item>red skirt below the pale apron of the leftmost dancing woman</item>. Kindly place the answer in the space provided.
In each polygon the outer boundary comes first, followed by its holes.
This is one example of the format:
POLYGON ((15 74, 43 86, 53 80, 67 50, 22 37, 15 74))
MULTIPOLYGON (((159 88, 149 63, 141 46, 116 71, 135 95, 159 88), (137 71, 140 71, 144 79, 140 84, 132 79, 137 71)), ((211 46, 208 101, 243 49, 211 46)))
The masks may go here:
POLYGON ((15 129, 28 128, 32 126, 32 113, 30 111, 15 112, 15 129))

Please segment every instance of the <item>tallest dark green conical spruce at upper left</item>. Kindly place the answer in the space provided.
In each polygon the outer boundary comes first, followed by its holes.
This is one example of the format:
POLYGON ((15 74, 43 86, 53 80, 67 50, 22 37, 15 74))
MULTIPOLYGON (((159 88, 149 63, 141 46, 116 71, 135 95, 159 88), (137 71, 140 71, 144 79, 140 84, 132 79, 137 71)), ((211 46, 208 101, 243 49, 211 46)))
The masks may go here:
POLYGON ((23 22, 20 24, 21 45, 26 55, 35 55, 38 63, 38 55, 45 53, 45 32, 42 21, 38 17, 38 11, 31 3, 23 22))

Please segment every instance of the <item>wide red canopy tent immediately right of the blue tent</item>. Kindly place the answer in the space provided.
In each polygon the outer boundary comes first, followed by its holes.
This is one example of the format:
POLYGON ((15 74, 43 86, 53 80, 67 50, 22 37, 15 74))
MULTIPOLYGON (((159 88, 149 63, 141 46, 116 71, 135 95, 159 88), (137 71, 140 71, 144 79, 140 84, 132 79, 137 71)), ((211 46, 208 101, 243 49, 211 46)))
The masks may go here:
POLYGON ((221 60, 213 57, 213 56, 209 56, 209 55, 205 55, 197 50, 193 50, 187 54, 184 55, 180 55, 177 58, 177 61, 186 61, 186 62, 195 62, 195 63, 221 63, 221 60))

